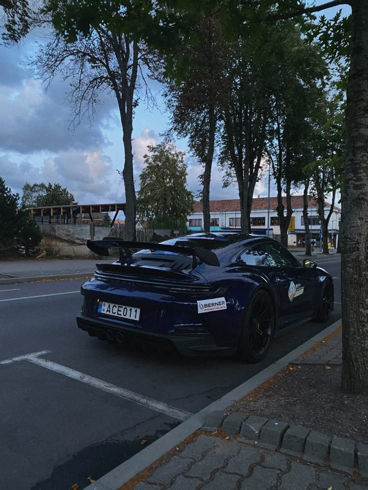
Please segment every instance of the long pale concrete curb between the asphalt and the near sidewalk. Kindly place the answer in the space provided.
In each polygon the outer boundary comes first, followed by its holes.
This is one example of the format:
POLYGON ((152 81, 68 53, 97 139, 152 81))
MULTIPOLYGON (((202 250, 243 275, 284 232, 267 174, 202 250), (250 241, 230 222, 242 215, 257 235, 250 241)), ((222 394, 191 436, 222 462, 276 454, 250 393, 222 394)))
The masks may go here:
POLYGON ((157 441, 150 444, 145 449, 111 470, 109 473, 106 473, 106 475, 101 477, 95 483, 85 487, 84 490, 116 490, 120 488, 137 473, 143 471, 154 461, 158 460, 161 458, 161 456, 170 451, 174 446, 177 446, 184 439, 190 436, 190 434, 200 429, 204 425, 206 418, 214 411, 225 412, 227 407, 234 404, 251 391, 255 390, 255 388, 287 366, 290 361, 296 359, 300 356, 300 354, 313 347, 317 342, 323 340, 325 337, 327 337, 327 335, 340 327, 340 325, 341 319, 337 320, 329 327, 326 327, 324 330, 319 332, 319 334, 314 335, 314 337, 307 340, 275 363, 263 369, 260 373, 234 388, 223 397, 207 405, 207 407, 204 407, 188 420, 167 432, 164 436, 157 439, 157 441))

